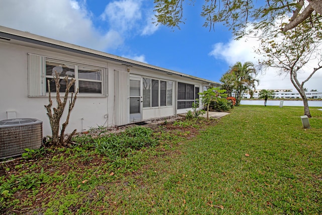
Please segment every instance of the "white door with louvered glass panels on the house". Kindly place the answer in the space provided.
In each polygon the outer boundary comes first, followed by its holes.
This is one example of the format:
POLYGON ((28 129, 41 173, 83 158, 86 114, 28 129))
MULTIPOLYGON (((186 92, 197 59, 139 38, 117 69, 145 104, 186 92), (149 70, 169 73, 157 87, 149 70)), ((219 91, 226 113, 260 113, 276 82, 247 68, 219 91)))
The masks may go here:
POLYGON ((142 92, 141 79, 130 78, 130 119, 129 122, 136 122, 142 119, 142 92))

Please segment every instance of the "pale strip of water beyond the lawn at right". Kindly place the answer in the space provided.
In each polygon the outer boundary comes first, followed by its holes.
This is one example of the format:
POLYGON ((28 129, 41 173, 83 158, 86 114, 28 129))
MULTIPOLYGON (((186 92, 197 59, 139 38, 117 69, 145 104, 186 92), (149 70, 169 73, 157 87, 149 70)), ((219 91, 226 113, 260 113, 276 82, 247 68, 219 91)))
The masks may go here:
MULTIPOLYGON (((241 105, 264 105, 264 100, 241 100, 241 105)), ((280 106, 280 100, 267 100, 267 106, 280 106)), ((303 101, 283 100, 283 106, 303 106, 303 101)), ((309 107, 322 107, 322 101, 308 101, 309 107)))

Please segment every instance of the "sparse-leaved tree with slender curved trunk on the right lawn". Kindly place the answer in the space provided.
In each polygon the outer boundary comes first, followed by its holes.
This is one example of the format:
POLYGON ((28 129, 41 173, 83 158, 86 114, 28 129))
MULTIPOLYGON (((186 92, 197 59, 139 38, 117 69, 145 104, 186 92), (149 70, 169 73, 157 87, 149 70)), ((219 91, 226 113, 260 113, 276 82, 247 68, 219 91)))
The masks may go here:
POLYGON ((289 76, 303 100, 304 114, 311 117, 304 84, 322 69, 322 28, 309 28, 308 25, 300 23, 290 31, 280 32, 275 40, 263 39, 259 53, 264 58, 259 63, 263 67, 276 68, 280 74, 289 76), (300 81, 298 73, 303 71, 307 78, 300 81))

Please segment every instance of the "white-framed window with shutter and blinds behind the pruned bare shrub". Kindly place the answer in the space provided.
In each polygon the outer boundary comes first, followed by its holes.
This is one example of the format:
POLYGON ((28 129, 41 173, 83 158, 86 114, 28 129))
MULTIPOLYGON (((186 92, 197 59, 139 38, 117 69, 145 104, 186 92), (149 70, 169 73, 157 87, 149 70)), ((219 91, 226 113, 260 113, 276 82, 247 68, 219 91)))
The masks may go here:
POLYGON ((56 92, 54 77, 59 74, 59 92, 66 90, 66 82, 63 80, 74 79, 75 83, 70 92, 79 91, 79 95, 103 95, 104 68, 68 62, 44 56, 29 54, 29 96, 46 96, 50 92, 56 92), (48 85, 49 82, 49 85, 48 85))

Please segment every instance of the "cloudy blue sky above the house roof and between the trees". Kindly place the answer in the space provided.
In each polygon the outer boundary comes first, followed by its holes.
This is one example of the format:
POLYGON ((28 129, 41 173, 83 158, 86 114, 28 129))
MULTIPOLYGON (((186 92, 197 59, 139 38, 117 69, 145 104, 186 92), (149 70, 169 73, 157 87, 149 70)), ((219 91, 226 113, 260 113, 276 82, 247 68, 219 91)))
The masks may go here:
MULTIPOLYGON (((216 82, 237 61, 257 62, 256 39, 235 41, 221 24, 202 27, 203 1, 186 2, 181 30, 155 26, 151 0, 0 0, 0 25, 216 82)), ((272 69, 257 78, 257 89, 294 89, 272 69)), ((306 88, 321 91, 321 78, 306 88)))

